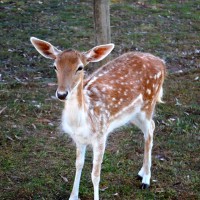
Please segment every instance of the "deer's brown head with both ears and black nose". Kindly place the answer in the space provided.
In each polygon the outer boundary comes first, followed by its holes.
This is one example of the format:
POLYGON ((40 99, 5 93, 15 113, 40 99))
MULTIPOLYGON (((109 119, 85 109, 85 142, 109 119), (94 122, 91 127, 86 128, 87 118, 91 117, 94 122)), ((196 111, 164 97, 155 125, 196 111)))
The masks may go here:
POLYGON ((83 69, 89 62, 104 59, 114 48, 114 44, 100 45, 87 52, 76 50, 60 51, 49 42, 31 37, 31 43, 45 58, 54 60, 58 79, 56 97, 66 100, 83 80, 83 69))

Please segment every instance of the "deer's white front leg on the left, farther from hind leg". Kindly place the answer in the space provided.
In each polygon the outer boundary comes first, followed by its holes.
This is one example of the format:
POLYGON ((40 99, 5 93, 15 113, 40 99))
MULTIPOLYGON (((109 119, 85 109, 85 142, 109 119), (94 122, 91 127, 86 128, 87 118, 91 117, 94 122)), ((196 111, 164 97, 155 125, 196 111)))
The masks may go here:
POLYGON ((82 173, 84 160, 85 160, 85 151, 86 151, 86 145, 77 145, 77 148, 76 148, 76 175, 75 175, 72 193, 70 195, 69 200, 78 200, 81 173, 82 173))

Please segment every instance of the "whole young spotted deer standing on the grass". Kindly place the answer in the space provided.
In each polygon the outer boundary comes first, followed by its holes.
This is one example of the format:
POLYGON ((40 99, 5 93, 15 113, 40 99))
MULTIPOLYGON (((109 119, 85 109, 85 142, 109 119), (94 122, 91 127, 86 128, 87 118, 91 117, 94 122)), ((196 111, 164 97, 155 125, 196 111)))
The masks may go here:
POLYGON ((141 188, 151 178, 151 153, 157 102, 162 102, 165 62, 150 53, 125 53, 85 78, 87 64, 103 60, 114 44, 95 46, 89 51, 61 51, 47 41, 31 37, 35 49, 52 59, 57 75, 56 97, 64 102, 62 129, 76 144, 76 173, 69 200, 79 199, 79 185, 87 146, 92 147, 91 179, 94 200, 99 200, 101 165, 111 132, 127 123, 144 134, 144 159, 138 172, 141 188))

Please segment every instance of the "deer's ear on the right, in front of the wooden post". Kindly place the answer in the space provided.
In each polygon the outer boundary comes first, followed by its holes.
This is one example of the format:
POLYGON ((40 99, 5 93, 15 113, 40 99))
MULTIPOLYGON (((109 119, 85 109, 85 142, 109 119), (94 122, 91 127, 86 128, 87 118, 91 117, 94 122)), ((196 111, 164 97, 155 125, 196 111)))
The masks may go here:
POLYGON ((84 53, 87 62, 99 62, 103 60, 114 48, 114 44, 105 44, 92 48, 84 53))

